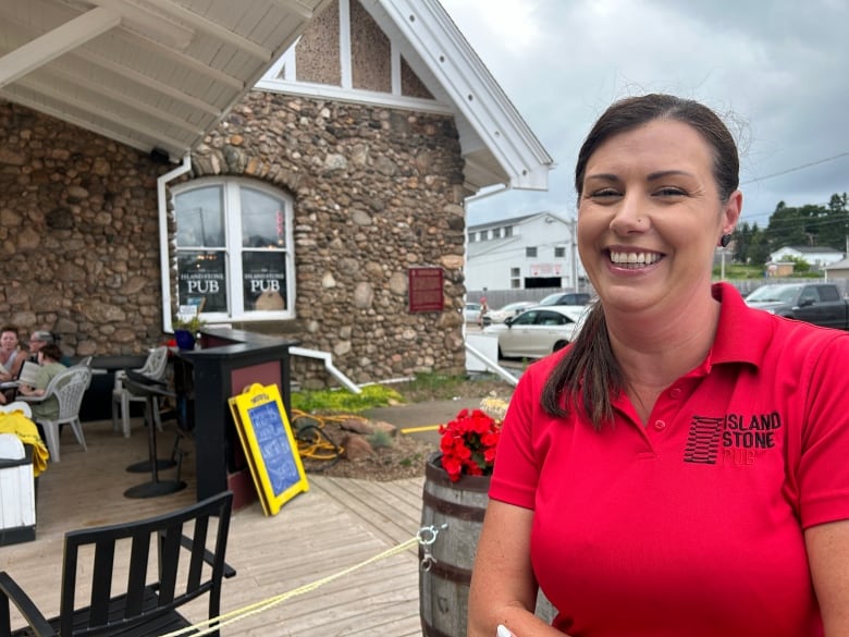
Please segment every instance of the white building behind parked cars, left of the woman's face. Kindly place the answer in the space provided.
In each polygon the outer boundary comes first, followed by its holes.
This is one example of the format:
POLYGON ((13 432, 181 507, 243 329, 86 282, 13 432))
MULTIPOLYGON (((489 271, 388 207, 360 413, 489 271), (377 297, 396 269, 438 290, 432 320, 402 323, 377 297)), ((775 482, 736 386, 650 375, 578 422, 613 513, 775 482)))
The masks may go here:
POLYGON ((469 225, 468 290, 580 290, 587 275, 578 259, 575 220, 538 212, 469 225))

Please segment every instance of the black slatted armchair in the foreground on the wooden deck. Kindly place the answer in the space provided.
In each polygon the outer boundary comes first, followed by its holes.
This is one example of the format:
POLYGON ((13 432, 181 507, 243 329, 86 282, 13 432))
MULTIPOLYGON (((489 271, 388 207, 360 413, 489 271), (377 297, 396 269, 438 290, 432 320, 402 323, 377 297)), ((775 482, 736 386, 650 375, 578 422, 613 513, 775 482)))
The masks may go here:
POLYGON ((202 595, 209 595, 209 617, 217 617, 222 577, 236 574, 224 562, 232 506, 233 493, 225 491, 158 517, 65 534, 59 616, 47 620, 2 572, 0 637, 164 635, 193 625, 177 609, 202 595), (218 518, 214 529, 212 518, 218 518), (123 547, 130 555, 125 578, 113 573, 115 564, 126 562, 118 554, 123 547), (186 555, 182 549, 187 549, 187 560, 181 560, 186 555), (148 568, 155 559, 158 568, 148 568), (79 581, 84 577, 90 577, 88 586, 79 581), (78 608, 76 591, 87 589, 88 605, 78 608), (10 600, 28 628, 12 632, 10 600))

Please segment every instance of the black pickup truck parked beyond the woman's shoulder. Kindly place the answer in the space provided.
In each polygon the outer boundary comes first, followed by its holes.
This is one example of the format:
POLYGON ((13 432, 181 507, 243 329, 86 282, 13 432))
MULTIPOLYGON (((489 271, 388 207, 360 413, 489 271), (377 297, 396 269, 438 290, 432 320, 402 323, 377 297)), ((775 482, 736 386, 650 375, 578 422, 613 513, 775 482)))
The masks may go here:
POLYGON ((746 297, 746 304, 777 316, 849 330, 849 302, 834 283, 762 285, 746 297))

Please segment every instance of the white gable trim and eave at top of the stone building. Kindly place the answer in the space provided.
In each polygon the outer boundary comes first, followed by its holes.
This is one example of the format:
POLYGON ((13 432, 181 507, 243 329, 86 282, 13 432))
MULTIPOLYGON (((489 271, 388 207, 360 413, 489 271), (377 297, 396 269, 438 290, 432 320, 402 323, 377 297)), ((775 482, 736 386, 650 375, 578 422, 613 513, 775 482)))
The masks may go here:
POLYGON ((342 86, 296 82, 294 47, 256 88, 455 118, 469 193, 501 185, 545 191, 554 162, 436 0, 360 0, 390 38, 392 94, 354 89, 349 73, 348 0, 340 0, 342 86), (347 39, 346 39, 347 38, 347 39), (345 44, 347 42, 347 44, 345 44), (434 100, 401 96, 401 57, 434 100))

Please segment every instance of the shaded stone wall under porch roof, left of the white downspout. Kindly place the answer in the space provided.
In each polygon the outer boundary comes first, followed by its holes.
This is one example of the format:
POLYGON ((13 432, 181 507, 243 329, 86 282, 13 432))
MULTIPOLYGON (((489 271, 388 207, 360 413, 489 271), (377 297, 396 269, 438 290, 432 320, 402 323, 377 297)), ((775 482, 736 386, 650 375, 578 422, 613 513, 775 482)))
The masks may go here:
POLYGON ((0 322, 69 355, 161 341, 156 180, 145 154, 0 100, 0 322))

